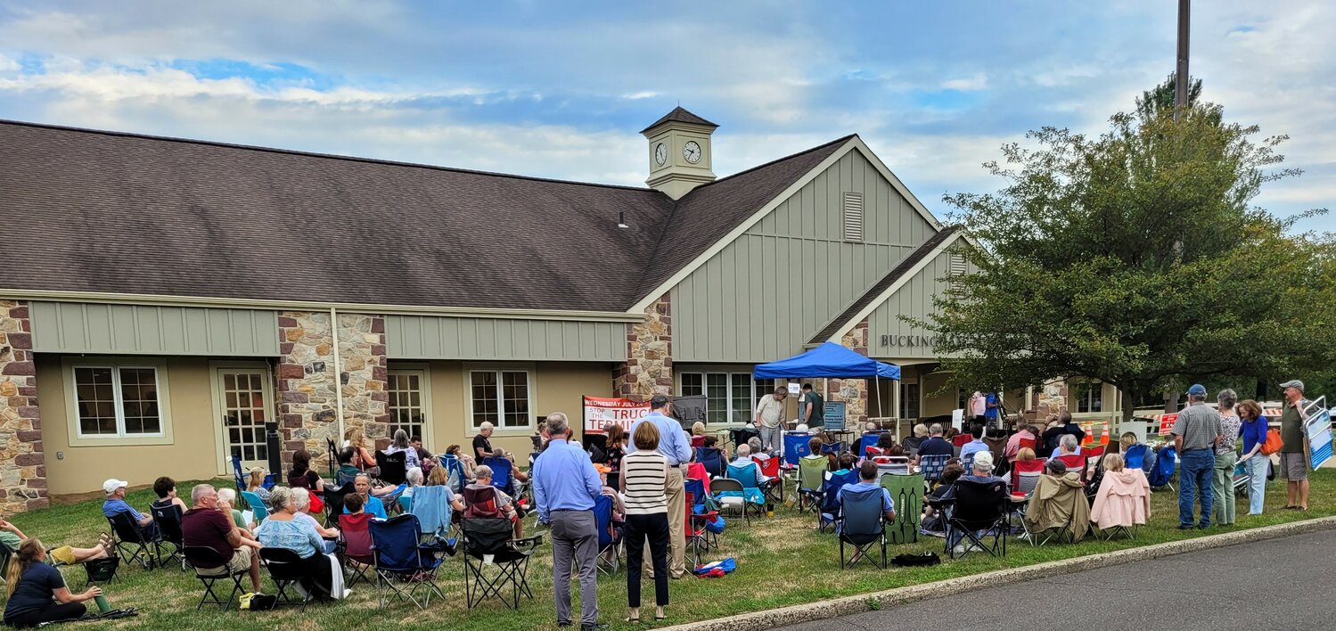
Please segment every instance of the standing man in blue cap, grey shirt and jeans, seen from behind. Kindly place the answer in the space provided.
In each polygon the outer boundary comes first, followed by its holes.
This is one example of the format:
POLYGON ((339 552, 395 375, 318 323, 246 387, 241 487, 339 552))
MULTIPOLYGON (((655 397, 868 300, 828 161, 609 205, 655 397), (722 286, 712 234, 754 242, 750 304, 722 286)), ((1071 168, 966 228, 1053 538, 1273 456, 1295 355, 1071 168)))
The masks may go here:
POLYGON ((1216 438, 1221 436, 1220 412, 1206 405, 1206 386, 1188 388, 1188 406, 1173 421, 1173 447, 1178 451, 1178 529, 1186 531, 1193 523, 1193 504, 1201 497, 1201 521, 1197 528, 1210 527, 1212 487, 1216 468, 1216 438))

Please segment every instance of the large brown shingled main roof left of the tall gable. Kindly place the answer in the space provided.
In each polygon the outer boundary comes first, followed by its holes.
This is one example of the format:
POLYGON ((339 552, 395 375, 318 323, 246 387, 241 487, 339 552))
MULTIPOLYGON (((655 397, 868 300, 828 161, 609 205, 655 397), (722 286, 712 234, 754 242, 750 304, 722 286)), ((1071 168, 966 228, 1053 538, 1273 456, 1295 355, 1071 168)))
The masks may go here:
POLYGON ((0 286, 620 311, 839 144, 675 203, 639 187, 0 122, 0 219, 31 245, 0 286))

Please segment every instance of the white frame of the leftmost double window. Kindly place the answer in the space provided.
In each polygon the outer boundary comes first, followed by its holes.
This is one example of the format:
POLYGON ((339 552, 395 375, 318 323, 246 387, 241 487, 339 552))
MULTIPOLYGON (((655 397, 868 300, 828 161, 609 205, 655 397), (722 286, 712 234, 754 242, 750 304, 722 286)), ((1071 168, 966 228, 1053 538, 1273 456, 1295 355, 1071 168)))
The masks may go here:
POLYGON ((151 357, 65 357, 61 358, 65 381, 65 426, 69 447, 124 447, 124 445, 171 445, 171 392, 168 390, 167 362, 151 357), (115 434, 84 434, 79 418, 79 386, 75 370, 81 368, 110 368, 112 397, 116 412, 115 434), (158 389, 158 426, 154 433, 126 433, 126 409, 120 392, 122 369, 152 369, 158 389))

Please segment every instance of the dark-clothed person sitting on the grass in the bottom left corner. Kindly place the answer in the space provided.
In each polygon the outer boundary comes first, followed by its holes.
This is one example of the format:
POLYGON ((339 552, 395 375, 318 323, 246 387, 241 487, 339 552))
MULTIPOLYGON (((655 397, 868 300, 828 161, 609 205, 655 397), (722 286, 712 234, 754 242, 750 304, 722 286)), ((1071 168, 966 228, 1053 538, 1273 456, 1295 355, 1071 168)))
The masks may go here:
POLYGON ((102 595, 98 586, 83 594, 71 594, 60 571, 45 564, 47 551, 39 539, 25 539, 9 559, 5 572, 4 623, 11 627, 36 627, 44 622, 77 620, 88 611, 83 604, 102 595))

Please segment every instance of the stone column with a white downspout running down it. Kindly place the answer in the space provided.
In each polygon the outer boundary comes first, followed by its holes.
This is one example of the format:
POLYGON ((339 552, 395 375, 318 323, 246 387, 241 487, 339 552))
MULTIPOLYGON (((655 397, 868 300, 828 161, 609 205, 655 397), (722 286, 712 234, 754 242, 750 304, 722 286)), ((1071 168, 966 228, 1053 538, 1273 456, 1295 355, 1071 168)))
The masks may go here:
MULTIPOLYGON (((283 463, 306 448, 313 467, 327 467, 326 438, 342 443, 334 390, 334 336, 325 311, 283 311, 278 317, 278 393, 283 463)), ((361 426, 369 438, 385 437, 385 317, 338 314, 338 350, 343 390, 343 428, 361 426)))

